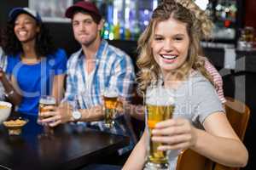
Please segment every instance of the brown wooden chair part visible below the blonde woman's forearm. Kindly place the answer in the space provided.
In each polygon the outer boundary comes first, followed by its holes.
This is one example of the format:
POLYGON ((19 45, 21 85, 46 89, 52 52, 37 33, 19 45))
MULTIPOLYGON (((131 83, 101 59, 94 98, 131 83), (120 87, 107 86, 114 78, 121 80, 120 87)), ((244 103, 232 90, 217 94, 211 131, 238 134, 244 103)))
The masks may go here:
POLYGON ((213 161, 193 150, 184 150, 177 158, 176 170, 212 170, 213 161))

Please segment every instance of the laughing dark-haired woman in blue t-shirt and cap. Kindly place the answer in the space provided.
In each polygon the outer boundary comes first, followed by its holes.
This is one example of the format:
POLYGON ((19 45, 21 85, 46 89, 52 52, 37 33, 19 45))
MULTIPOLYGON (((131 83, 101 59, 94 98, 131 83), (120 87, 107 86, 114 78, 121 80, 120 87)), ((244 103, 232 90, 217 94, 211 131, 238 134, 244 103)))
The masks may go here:
POLYGON ((6 74, 0 78, 5 96, 17 111, 38 114, 41 95, 53 95, 58 101, 63 93, 67 54, 56 49, 40 15, 30 8, 13 8, 3 32, 3 50, 8 55, 6 74))

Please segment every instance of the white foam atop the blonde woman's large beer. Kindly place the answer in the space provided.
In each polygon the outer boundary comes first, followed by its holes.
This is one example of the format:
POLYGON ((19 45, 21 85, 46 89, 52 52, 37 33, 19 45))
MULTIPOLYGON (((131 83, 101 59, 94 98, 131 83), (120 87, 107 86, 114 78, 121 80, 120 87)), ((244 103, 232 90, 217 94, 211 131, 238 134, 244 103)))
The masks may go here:
POLYGON ((166 88, 150 88, 146 94, 148 105, 174 105, 173 93, 166 88))

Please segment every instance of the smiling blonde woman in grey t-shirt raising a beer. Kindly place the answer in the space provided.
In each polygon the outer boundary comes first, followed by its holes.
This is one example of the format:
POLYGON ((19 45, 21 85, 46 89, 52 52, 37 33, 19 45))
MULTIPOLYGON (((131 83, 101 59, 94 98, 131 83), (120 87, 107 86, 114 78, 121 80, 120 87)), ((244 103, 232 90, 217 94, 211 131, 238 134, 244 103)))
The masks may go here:
MULTIPOLYGON (((154 85, 176 91, 174 118, 157 123, 151 139, 162 143, 158 150, 189 148, 226 166, 245 167, 247 149, 230 126, 199 57, 201 37, 209 35, 212 23, 191 4, 160 3, 138 42, 140 90, 147 93, 154 85)), ((143 169, 147 138, 145 131, 123 169, 143 169)), ((176 164, 177 156, 169 155, 170 169, 176 164)))

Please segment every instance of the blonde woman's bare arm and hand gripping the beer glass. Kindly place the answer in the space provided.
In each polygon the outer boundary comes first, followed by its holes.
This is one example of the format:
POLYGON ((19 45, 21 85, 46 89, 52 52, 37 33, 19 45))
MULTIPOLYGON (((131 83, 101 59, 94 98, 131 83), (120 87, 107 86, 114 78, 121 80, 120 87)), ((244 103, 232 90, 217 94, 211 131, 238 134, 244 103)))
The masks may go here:
POLYGON ((203 126, 206 131, 193 127, 186 119, 170 119, 155 126, 152 139, 165 144, 160 146, 159 150, 190 148, 225 166, 247 165, 247 149, 224 113, 215 112, 207 116, 203 126))

